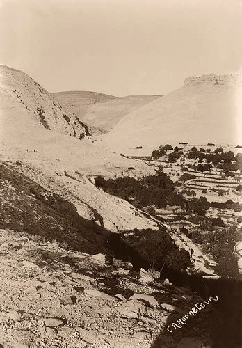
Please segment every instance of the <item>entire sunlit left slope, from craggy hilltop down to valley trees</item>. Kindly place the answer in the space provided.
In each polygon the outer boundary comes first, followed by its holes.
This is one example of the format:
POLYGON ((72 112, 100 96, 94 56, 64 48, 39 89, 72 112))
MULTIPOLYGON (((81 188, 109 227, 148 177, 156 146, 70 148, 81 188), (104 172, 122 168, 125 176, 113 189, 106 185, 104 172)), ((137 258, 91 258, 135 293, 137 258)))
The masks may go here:
MULTIPOLYGON (((136 214, 129 203, 97 189, 92 176, 142 176, 152 169, 103 150, 87 137, 79 140, 68 136, 74 125, 65 121, 62 112, 72 120, 74 116, 54 104, 56 100, 28 75, 1 67, 2 161, 21 168, 35 182, 74 203, 80 216, 98 221, 108 230, 150 226, 150 221, 136 214), (38 107, 45 108, 44 121, 50 129, 40 122, 38 107)), ((85 129, 78 126, 76 136, 78 132, 85 134, 85 129)))

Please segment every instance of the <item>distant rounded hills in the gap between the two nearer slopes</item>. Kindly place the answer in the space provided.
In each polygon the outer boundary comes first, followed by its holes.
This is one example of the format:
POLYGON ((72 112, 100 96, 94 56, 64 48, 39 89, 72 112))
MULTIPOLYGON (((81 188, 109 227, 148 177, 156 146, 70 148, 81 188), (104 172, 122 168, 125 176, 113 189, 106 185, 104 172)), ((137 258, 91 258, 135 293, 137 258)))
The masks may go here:
POLYGON ((54 96, 87 125, 108 132, 125 115, 152 102, 160 95, 113 97, 92 92, 61 92, 54 96))

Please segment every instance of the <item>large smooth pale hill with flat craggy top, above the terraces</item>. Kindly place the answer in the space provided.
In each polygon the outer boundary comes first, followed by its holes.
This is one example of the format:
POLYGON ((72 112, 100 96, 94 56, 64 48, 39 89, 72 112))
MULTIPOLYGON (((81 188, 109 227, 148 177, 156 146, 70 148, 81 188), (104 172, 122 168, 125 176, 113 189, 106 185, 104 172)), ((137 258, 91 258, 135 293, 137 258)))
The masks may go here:
POLYGON ((239 143, 242 75, 204 75, 124 116, 102 143, 127 151, 164 143, 239 143))

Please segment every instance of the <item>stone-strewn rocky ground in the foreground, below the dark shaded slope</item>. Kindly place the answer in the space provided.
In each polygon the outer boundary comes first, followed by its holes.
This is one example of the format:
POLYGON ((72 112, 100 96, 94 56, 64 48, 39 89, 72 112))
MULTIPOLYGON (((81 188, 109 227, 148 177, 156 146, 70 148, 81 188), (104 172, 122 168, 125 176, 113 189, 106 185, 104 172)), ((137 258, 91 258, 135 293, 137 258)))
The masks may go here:
POLYGON ((158 283, 103 254, 0 233, 2 347, 213 347, 223 322, 212 304, 167 331, 202 301, 188 288, 158 283))

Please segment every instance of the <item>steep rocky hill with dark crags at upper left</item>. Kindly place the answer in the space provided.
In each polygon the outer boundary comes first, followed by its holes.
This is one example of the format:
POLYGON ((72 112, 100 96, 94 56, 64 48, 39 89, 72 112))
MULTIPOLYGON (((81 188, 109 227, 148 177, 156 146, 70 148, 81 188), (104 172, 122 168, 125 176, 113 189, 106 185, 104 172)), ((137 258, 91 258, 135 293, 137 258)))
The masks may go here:
MULTIPOLYGON (((76 118, 42 86, 22 71, 0 65, 1 106, 25 113, 45 129, 82 139, 90 136, 88 127, 76 118)), ((4 113, 3 109, 3 113, 4 113)))

